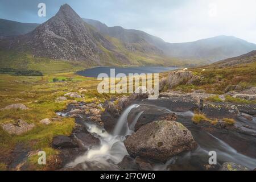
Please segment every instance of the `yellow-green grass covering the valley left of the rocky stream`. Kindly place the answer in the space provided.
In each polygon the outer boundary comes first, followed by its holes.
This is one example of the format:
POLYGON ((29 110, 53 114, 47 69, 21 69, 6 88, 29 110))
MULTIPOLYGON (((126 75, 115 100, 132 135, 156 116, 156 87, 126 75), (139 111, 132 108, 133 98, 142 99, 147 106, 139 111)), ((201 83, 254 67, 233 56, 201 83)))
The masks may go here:
MULTIPOLYGON (((22 135, 10 135, 0 127, 0 169, 3 158, 10 156, 17 143, 23 143, 31 150, 47 150, 49 159, 57 158, 57 152, 51 147, 52 138, 56 135, 70 135, 75 126, 75 119, 61 118, 61 121, 43 125, 39 121, 44 118, 54 118, 56 111, 63 110, 73 98, 67 101, 55 102, 57 97, 64 96, 67 92, 79 92, 80 88, 87 89, 83 92, 84 98, 76 99, 86 103, 95 102, 100 104, 110 97, 110 94, 98 94, 98 81, 96 78, 86 78, 73 72, 46 74, 44 76, 12 76, 0 74, 0 108, 10 104, 22 103, 28 110, 0 110, 0 125, 3 123, 15 123, 23 119, 27 123, 34 123, 34 129, 22 135), (52 82, 55 77, 71 78, 70 81, 52 82)), ((28 160, 30 169, 49 169, 50 166, 42 167, 36 164, 38 156, 31 156, 28 160)), ((47 158, 47 159, 48 159, 47 158)))

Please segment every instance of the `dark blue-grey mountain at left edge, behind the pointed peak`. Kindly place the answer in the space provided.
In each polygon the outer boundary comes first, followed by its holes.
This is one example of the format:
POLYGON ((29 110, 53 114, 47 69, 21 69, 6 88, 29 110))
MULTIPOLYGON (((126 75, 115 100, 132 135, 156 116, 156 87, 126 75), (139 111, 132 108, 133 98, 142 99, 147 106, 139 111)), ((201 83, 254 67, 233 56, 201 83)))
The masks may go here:
POLYGON ((0 36, 16 36, 27 34, 34 30, 38 23, 20 23, 11 20, 0 19, 0 36))

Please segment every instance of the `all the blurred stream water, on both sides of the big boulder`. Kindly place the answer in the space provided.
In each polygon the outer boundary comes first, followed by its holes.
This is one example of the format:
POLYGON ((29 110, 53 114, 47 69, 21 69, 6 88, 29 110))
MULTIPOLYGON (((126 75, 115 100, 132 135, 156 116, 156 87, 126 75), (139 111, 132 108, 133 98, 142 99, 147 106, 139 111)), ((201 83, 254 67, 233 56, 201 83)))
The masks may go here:
MULTIPOLYGON (((91 169, 96 166, 97 169, 120 169, 118 167, 118 163, 122 161, 125 155, 129 155, 123 141, 127 135, 134 132, 134 126, 138 121, 138 118, 143 113, 143 111, 138 113, 129 126, 127 116, 130 111, 136 107, 139 107, 139 105, 131 105, 123 111, 121 117, 118 119, 113 134, 109 134, 100 126, 85 122, 84 124, 89 133, 92 133, 94 136, 96 135, 96 137, 100 139, 100 145, 90 148, 84 155, 79 156, 72 163, 67 164, 67 167, 75 167, 77 164, 82 163, 82 168, 84 170, 91 169)), ((182 113, 173 112, 163 107, 159 107, 159 109, 179 115, 179 122, 183 123, 183 125, 191 131, 196 142, 199 144, 199 147, 193 151, 183 152, 180 155, 174 156, 168 160, 166 164, 155 163, 155 170, 166 170, 170 165, 178 166, 178 169, 205 170, 205 165, 208 164, 208 159, 210 158, 208 155, 209 151, 216 151, 217 153, 217 168, 219 168, 224 162, 238 163, 249 169, 254 169, 256 167, 255 158, 240 154, 223 140, 208 133, 207 131, 200 130, 198 126, 194 125, 191 122, 191 117, 193 116, 191 111, 182 113)), ((64 115, 64 113, 61 114, 64 115)))

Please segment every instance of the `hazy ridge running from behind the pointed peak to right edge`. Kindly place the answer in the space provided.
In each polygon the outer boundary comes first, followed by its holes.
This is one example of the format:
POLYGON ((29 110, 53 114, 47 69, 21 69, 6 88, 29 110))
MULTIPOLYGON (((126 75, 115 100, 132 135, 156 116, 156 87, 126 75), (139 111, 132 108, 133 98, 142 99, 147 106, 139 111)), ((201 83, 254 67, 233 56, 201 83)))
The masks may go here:
POLYGON ((138 30, 126 30, 122 27, 108 27, 93 19, 84 19, 102 34, 118 38, 127 47, 138 42, 147 42, 160 49, 165 55, 181 59, 200 59, 205 63, 214 62, 228 57, 242 55, 256 49, 256 44, 246 42, 234 36, 216 36, 188 43, 166 43, 164 40, 138 30))

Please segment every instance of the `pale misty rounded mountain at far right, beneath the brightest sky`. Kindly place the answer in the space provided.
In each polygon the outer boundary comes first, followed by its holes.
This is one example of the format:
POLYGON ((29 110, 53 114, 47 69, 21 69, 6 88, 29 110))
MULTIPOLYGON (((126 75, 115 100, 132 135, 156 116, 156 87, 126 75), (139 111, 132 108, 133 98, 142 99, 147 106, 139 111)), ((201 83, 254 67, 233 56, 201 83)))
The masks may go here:
POLYGON ((184 57, 218 61, 242 55, 256 49, 256 44, 234 36, 216 36, 188 43, 167 43, 166 53, 173 57, 184 57))

